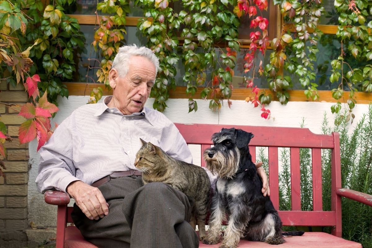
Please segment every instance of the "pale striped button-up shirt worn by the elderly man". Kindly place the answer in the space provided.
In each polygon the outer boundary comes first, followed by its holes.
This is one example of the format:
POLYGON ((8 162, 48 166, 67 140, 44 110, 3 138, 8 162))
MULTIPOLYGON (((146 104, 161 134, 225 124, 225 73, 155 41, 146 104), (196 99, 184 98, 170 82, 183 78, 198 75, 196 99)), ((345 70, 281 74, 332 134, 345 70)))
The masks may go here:
POLYGON ((140 138, 160 146, 171 157, 192 163, 191 152, 176 126, 162 113, 144 107, 123 115, 103 103, 86 104, 74 110, 40 149, 36 185, 66 192, 73 181, 87 184, 115 171, 135 169, 140 138))

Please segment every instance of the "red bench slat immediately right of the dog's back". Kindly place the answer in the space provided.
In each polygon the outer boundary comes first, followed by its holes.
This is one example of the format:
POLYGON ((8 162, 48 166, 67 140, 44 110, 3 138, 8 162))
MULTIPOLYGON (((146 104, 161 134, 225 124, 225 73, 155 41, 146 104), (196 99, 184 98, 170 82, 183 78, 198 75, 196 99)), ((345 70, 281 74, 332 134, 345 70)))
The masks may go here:
POLYGON ((270 199, 275 209, 279 210, 278 147, 269 147, 269 186, 270 199))

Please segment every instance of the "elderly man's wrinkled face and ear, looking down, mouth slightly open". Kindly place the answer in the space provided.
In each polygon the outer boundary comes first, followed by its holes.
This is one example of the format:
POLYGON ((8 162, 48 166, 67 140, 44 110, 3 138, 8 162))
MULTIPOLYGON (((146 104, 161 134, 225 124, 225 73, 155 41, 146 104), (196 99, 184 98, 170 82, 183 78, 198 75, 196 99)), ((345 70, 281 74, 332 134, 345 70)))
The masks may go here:
POLYGON ((109 83, 113 88, 113 97, 108 107, 116 107, 124 115, 141 112, 151 87, 155 83, 155 66, 147 58, 133 56, 128 73, 119 77, 118 71, 109 73, 109 83))

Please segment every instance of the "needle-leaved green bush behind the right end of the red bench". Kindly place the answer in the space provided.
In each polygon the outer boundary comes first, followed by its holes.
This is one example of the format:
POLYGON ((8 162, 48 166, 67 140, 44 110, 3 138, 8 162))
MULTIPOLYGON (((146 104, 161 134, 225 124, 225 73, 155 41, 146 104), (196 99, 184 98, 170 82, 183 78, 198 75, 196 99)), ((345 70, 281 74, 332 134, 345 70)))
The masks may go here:
MULTIPOLYGON (((344 110, 341 122, 330 127, 327 116, 324 115, 322 132, 340 133, 341 153, 341 187, 372 194, 372 105, 368 113, 363 115, 355 129, 349 130, 349 120, 344 110)), ((337 117, 336 117, 337 118, 337 117)), ((303 127, 304 122, 301 126, 303 127)), ((281 162, 283 170, 279 174, 279 208, 289 210, 291 207, 291 190, 289 180, 289 152, 283 149, 281 162)), ((331 210, 331 152, 322 151, 322 189, 323 210, 331 210)), ((301 167, 301 209, 312 209, 312 178, 311 178, 311 151, 300 150, 301 167)), ((360 242, 363 247, 372 247, 372 209, 365 204, 342 198, 342 236, 345 239, 360 242), (358 216, 358 218, 355 218, 358 216)), ((325 231, 330 231, 325 228, 325 231)))

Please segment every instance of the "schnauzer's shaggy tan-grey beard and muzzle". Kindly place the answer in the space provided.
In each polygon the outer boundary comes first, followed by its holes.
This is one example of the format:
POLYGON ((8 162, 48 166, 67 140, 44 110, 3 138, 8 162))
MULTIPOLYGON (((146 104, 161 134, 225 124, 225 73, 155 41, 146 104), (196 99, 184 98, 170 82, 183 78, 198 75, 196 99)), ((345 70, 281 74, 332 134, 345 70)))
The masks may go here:
POLYGON ((219 178, 232 178, 239 168, 240 154, 237 147, 228 151, 216 151, 213 158, 208 156, 209 149, 203 153, 206 168, 219 178))

